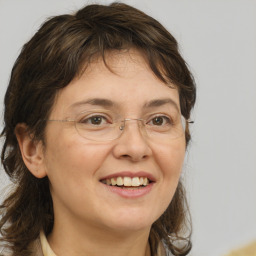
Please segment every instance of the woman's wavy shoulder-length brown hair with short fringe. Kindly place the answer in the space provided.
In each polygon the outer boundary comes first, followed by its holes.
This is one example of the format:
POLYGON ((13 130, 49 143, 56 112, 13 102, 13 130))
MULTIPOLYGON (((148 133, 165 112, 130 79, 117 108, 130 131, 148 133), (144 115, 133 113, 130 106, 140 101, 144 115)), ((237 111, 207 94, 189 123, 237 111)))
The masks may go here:
MULTIPOLYGON (((48 118, 57 92, 79 75, 91 58, 106 61, 106 52, 130 48, 145 56, 159 79, 177 86, 182 115, 189 119, 195 103, 195 84, 175 38, 158 21, 129 5, 88 5, 74 15, 53 17, 24 45, 5 95, 2 131, 1 159, 15 186, 0 206, 0 240, 13 255, 31 255, 28 245, 40 230, 48 235, 54 221, 48 178, 37 179, 28 171, 14 133, 16 125, 25 123, 34 139, 43 141, 43 120, 48 118)), ((187 144, 189 140, 187 124, 187 144)), ((153 254, 163 242, 174 255, 187 255, 191 249, 187 211, 180 181, 169 207, 152 225, 153 254), (187 236, 184 230, 189 231, 187 236), (181 247, 180 241, 185 242, 181 247)))

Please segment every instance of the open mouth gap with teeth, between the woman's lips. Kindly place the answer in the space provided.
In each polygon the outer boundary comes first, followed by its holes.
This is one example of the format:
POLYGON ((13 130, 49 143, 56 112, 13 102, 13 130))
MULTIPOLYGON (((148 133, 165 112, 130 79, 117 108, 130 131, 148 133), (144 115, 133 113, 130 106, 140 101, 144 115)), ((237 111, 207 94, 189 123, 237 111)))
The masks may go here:
POLYGON ((101 183, 113 186, 113 187, 119 187, 123 189, 138 189, 138 188, 145 188, 149 184, 153 183, 152 180, 150 180, 148 177, 129 177, 129 176, 118 176, 118 177, 112 177, 112 178, 106 178, 100 180, 101 183))

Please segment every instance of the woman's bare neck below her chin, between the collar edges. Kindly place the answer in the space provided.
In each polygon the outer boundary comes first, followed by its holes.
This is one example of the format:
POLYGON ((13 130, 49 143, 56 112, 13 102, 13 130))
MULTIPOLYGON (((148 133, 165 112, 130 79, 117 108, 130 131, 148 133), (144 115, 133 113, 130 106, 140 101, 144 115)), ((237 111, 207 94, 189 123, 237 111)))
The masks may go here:
POLYGON ((57 256, 150 256, 149 231, 113 231, 55 220, 48 242, 57 256))

